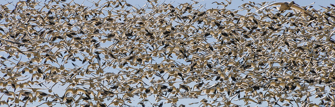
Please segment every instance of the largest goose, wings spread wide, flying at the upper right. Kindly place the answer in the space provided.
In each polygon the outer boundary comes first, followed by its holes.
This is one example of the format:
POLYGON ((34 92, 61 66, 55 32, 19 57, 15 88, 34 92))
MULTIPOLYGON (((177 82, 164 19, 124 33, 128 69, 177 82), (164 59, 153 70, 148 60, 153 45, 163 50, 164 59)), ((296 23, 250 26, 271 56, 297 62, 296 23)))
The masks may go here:
POLYGON ((262 7, 260 9, 258 9, 258 10, 262 10, 262 9, 264 9, 266 7, 278 6, 278 5, 280 5, 280 6, 276 7, 276 8, 277 8, 277 10, 279 10, 281 12, 284 11, 284 10, 288 10, 288 9, 294 9, 296 11, 299 11, 299 12, 302 12, 302 13, 304 13, 306 15, 309 15, 314 20, 316 20, 315 17, 313 17, 313 15, 311 15, 309 12, 307 12, 304 8, 296 5, 294 3, 294 1, 291 1, 291 2, 276 2, 276 3, 269 4, 269 5, 265 6, 265 7, 262 7))

